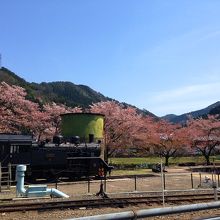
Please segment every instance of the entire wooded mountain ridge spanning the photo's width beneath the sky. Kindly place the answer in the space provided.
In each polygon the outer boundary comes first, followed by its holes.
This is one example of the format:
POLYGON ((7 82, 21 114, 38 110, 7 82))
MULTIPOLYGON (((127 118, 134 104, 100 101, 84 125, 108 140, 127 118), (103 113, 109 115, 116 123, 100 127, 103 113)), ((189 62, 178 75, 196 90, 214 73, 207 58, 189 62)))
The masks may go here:
MULTIPOLYGON (((55 81, 55 82, 27 82, 25 79, 19 77, 11 70, 2 67, 0 68, 0 82, 5 81, 9 85, 18 85, 27 91, 27 98, 34 102, 56 102, 65 104, 71 107, 87 108, 92 103, 100 101, 116 101, 124 106, 136 108, 138 113, 150 115, 159 118, 146 109, 139 109, 134 105, 119 102, 115 99, 109 98, 90 88, 87 85, 76 85, 69 81, 55 81)), ((181 115, 168 114, 161 119, 165 119, 172 123, 185 123, 189 116, 193 118, 203 117, 207 114, 220 114, 220 101, 217 101, 206 108, 184 113, 181 115)))

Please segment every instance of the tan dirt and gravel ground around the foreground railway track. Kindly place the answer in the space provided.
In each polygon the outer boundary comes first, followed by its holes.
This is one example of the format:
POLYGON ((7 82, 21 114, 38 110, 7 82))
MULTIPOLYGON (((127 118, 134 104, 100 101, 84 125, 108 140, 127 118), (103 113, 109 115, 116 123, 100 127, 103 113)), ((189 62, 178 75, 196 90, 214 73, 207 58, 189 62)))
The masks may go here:
MULTIPOLYGON (((218 183, 218 177, 212 174, 193 173, 185 169, 168 169, 165 178, 161 178, 160 174, 154 174, 152 177, 145 178, 126 178, 126 179, 110 179, 106 181, 105 190, 109 197, 124 196, 127 192, 142 193, 158 191, 162 192, 165 186, 165 191, 170 190, 191 190, 193 189, 212 189, 212 180, 218 183)), ((57 187, 58 190, 68 194, 71 199, 81 198, 95 198, 95 194, 100 189, 101 181, 91 181, 89 184, 86 181, 72 182, 72 183, 59 183, 49 184, 49 188, 57 187)), ((104 182, 103 182, 104 183, 104 182)), ((16 196, 15 188, 10 192, 1 192, 1 198, 13 198, 16 196)), ((173 206, 173 204, 165 204, 166 207, 173 206)), ((162 207, 158 204, 130 206, 126 208, 102 208, 100 209, 86 209, 80 208, 78 210, 59 210, 59 211, 32 211, 32 212, 16 212, 16 213, 0 213, 0 219, 16 220, 16 219, 71 219, 82 216, 100 215, 107 213, 140 210, 162 207)), ((203 219, 207 217, 220 216, 220 209, 199 211, 188 214, 176 214, 163 217, 153 217, 148 219, 203 219)))

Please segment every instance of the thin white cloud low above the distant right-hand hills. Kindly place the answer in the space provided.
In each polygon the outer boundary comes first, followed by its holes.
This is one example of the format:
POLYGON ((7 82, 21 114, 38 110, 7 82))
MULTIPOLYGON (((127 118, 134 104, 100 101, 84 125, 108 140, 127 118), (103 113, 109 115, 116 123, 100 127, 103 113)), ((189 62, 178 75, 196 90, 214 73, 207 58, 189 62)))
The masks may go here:
POLYGON ((135 104, 158 116, 183 114, 220 100, 220 81, 194 84, 136 97, 135 104), (141 105, 140 105, 141 103, 141 105))

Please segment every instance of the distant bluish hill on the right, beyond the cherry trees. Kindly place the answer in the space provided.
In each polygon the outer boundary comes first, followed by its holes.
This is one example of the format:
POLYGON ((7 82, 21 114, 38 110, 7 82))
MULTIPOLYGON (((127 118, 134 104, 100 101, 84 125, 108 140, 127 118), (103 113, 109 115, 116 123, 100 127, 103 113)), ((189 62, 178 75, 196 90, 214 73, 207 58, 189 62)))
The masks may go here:
POLYGON ((208 114, 212 114, 212 115, 220 114, 220 101, 212 105, 209 105, 206 108, 200 109, 198 111, 193 111, 182 115, 166 115, 163 116, 162 118, 173 123, 185 123, 189 118, 189 116, 193 118, 198 118, 200 116, 202 117, 208 114))

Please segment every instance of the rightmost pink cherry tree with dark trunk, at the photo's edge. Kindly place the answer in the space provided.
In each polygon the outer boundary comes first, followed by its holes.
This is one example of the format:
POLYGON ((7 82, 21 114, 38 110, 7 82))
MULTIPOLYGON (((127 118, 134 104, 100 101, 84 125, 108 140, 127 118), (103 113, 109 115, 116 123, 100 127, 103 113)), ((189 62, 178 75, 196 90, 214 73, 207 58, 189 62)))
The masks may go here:
POLYGON ((210 165, 210 156, 216 146, 220 145, 220 121, 218 116, 190 119, 187 122, 188 138, 192 149, 200 152, 206 164, 210 165))

